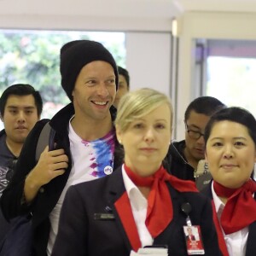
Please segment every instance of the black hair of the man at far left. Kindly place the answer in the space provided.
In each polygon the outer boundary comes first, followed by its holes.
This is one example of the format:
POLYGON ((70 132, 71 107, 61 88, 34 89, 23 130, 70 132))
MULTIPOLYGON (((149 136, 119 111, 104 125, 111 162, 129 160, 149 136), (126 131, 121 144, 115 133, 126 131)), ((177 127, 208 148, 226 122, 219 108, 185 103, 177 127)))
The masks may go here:
POLYGON ((35 104, 38 110, 38 117, 41 115, 43 111, 43 100, 38 90, 35 90, 30 84, 13 84, 3 91, 3 94, 0 98, 0 114, 2 117, 4 114, 4 108, 5 108, 6 102, 10 95, 16 95, 16 96, 32 95, 34 97, 35 104))

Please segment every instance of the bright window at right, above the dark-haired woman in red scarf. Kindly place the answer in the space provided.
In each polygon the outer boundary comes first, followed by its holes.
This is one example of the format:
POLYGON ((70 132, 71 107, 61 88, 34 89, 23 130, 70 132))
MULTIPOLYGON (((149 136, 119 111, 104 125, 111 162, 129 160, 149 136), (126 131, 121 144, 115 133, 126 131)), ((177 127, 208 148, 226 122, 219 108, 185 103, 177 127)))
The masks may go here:
POLYGON ((247 108, 256 117, 255 41, 210 39, 206 46, 206 95, 247 108))

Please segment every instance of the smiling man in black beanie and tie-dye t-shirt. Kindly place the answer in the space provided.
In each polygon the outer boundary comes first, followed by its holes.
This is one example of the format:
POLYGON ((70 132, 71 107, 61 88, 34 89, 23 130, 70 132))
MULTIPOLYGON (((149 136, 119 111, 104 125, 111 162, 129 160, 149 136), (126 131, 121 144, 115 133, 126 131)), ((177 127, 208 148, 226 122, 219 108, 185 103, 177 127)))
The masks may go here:
POLYGON ((113 56, 94 41, 69 42, 61 48, 60 70, 71 103, 35 125, 1 199, 5 218, 32 213, 35 256, 51 254, 68 187, 109 175, 122 163, 111 110, 118 86, 113 56), (48 121, 49 146, 37 162, 38 138, 48 121))

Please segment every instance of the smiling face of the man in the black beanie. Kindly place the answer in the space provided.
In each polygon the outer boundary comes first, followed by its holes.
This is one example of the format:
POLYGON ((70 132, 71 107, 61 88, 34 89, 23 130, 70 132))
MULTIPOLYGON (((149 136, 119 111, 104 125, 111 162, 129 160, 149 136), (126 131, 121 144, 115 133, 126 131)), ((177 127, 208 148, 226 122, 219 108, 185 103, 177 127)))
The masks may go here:
POLYGON ((116 94, 113 67, 106 61, 85 65, 73 89, 73 106, 80 119, 101 120, 109 116, 116 94))

